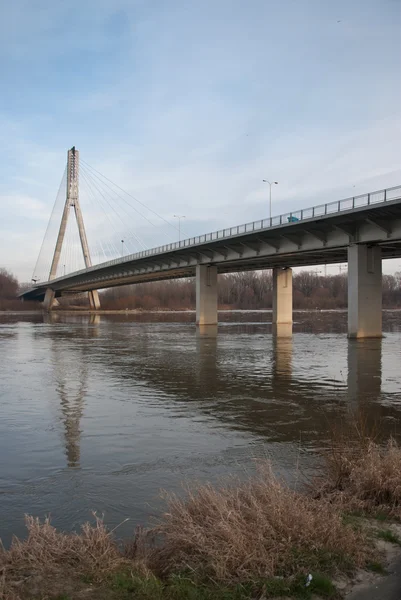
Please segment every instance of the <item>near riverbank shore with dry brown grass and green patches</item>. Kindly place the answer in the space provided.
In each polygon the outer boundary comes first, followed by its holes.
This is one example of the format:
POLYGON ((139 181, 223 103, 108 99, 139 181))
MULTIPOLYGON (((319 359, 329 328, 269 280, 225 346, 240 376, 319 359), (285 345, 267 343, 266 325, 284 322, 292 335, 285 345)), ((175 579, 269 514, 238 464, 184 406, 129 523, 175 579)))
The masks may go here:
POLYGON ((247 481, 166 495, 159 521, 124 544, 97 517, 79 534, 26 517, 26 539, 0 551, 0 598, 341 598, 401 550, 401 448, 344 437, 324 463, 302 492, 261 462, 247 481))

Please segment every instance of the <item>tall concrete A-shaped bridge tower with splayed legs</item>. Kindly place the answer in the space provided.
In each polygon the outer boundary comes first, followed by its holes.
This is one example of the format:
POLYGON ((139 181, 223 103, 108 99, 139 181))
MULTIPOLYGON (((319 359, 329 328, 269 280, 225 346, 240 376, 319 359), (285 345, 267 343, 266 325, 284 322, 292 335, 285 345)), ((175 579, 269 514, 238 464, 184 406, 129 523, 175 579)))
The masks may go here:
MULTIPOLYGON (((67 228, 68 217, 70 209, 74 209, 75 218, 77 220, 79 239, 81 241, 82 253, 84 255, 85 267, 92 266, 92 260, 90 257, 88 240, 86 237, 84 220, 82 217, 81 205, 79 203, 79 151, 76 150, 75 146, 68 150, 67 153, 67 193, 64 204, 63 216, 61 218, 60 229, 57 236, 56 247, 54 249, 54 255, 52 264, 50 267, 49 281, 55 279, 58 264, 60 262, 61 248, 63 246, 65 231, 67 228)), ((93 309, 100 308, 99 293, 97 290, 88 292, 89 304, 93 309)), ((44 308, 50 311, 55 303, 55 292, 49 287, 46 290, 45 299, 43 302, 44 308)))

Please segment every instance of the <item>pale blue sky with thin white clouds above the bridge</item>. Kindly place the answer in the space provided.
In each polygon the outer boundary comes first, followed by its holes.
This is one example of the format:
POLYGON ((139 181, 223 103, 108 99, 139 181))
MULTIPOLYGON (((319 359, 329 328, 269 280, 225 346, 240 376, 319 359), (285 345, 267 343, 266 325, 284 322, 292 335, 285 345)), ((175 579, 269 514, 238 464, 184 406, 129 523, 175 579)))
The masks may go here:
POLYGON ((400 28, 400 0, 3 2, 0 266, 30 280, 73 145, 174 223, 121 222, 150 247, 267 217, 263 179, 273 214, 401 184, 400 28))

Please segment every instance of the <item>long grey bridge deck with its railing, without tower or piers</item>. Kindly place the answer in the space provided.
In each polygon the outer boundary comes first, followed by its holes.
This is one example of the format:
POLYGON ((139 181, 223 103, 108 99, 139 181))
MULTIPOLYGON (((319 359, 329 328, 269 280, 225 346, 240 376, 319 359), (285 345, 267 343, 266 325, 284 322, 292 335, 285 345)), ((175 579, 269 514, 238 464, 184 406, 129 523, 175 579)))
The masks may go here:
POLYGON ((348 246, 355 243, 380 245, 383 258, 401 257, 401 186, 144 250, 41 282, 21 297, 43 299, 48 287, 59 296, 191 277, 197 264, 229 273, 346 262, 348 246))

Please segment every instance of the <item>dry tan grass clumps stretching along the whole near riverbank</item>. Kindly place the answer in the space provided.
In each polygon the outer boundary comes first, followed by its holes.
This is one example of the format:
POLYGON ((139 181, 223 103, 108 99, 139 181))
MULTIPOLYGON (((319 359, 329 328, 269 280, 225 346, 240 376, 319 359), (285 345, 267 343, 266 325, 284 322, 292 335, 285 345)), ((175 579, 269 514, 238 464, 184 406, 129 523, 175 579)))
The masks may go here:
POLYGON ((21 579, 49 570, 77 580, 90 574, 107 585, 110 574, 128 567, 138 581, 157 582, 160 597, 169 598, 171 581, 183 574, 202 585, 260 587, 278 576, 296 581, 309 572, 346 574, 363 567, 374 544, 344 519, 344 511, 401 519, 401 448, 394 440, 351 439, 332 444, 318 492, 316 486, 312 493, 288 488, 261 462, 245 482, 199 485, 183 498, 166 494, 167 512, 152 529, 139 529, 123 550, 96 515, 79 534, 26 517, 27 538, 15 538, 9 550, 0 545, 0 599, 31 597, 21 595, 21 579))

